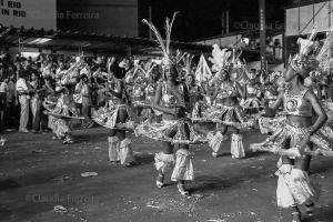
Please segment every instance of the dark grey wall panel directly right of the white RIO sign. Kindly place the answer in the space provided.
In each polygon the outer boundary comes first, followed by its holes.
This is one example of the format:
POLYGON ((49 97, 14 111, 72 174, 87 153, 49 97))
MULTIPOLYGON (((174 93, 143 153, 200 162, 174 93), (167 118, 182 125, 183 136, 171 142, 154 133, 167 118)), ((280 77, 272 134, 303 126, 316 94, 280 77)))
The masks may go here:
POLYGON ((138 37, 138 0, 57 0, 57 12, 60 30, 138 37), (72 18, 68 17, 68 11, 91 14, 72 18))

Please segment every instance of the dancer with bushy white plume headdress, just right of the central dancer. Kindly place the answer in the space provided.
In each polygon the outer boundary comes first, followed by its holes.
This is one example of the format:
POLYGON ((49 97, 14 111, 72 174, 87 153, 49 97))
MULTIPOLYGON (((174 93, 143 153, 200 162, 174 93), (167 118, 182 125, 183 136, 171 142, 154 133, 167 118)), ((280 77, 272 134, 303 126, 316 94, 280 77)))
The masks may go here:
POLYGON ((233 131, 231 135, 231 155, 232 158, 244 158, 245 151, 243 147, 243 135, 240 129, 248 125, 239 98, 244 98, 244 89, 230 75, 229 58, 231 52, 226 49, 221 50, 218 46, 213 46, 213 69, 216 71, 215 92, 212 97, 213 105, 203 111, 203 118, 208 120, 218 120, 218 132, 209 142, 212 148, 212 155, 216 158, 221 148, 221 143, 229 128, 233 131))

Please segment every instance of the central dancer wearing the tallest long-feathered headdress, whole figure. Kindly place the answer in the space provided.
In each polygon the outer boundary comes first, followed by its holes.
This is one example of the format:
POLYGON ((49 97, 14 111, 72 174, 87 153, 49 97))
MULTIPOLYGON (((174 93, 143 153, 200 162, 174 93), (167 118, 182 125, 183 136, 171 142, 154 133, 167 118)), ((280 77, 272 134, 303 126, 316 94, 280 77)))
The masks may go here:
POLYGON ((155 168, 159 172, 157 179, 158 188, 164 185, 164 176, 173 168, 171 180, 176 182, 178 190, 182 195, 189 195, 189 191, 185 189, 185 181, 194 179, 189 144, 195 142, 195 137, 191 122, 186 119, 188 89, 178 81, 176 60, 170 53, 170 36, 175 16, 176 13, 173 14, 171 21, 167 19, 167 41, 161 38, 161 34, 152 23, 143 20, 154 32, 163 52, 164 81, 159 83, 153 102, 153 109, 162 112, 162 121, 158 123, 145 121, 135 129, 135 134, 163 142, 165 150, 155 154, 155 168), (179 144, 175 158, 173 154, 174 143, 179 144))

